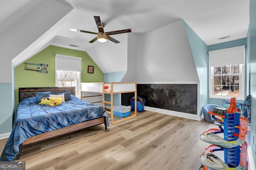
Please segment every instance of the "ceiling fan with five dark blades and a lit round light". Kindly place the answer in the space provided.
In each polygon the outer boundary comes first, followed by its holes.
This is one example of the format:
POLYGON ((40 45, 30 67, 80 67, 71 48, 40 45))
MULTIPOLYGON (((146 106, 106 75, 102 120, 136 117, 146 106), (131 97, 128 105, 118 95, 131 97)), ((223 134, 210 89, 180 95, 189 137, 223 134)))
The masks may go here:
POLYGON ((118 30, 118 31, 104 32, 103 27, 106 24, 102 23, 102 20, 101 20, 100 16, 94 16, 94 20, 95 20, 96 25, 97 25, 98 30, 99 30, 98 33, 90 32, 90 31, 84 31, 84 30, 80 30, 80 29, 74 29, 74 28, 70 28, 70 31, 97 34, 97 37, 95 37, 94 39, 89 41, 89 43, 93 43, 96 40, 98 40, 101 43, 105 43, 107 41, 107 39, 110 40, 110 41, 113 41, 114 43, 120 43, 120 41, 117 41, 116 39, 110 37, 109 35, 132 32, 131 29, 122 29, 122 30, 118 30))

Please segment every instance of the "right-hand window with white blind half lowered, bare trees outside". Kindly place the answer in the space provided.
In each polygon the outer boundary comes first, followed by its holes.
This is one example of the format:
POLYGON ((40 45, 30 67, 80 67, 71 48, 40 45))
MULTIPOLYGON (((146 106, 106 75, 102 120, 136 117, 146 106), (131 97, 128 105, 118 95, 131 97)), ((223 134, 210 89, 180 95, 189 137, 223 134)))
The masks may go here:
POLYGON ((244 100, 244 46, 209 51, 209 98, 244 100))

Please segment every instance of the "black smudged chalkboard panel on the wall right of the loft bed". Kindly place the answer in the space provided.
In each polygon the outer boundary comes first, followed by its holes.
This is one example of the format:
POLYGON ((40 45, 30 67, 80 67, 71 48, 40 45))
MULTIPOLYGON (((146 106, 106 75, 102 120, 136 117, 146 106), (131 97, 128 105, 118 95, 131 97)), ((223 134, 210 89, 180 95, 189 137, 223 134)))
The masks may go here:
POLYGON ((145 106, 197 114, 197 84, 137 84, 145 106))

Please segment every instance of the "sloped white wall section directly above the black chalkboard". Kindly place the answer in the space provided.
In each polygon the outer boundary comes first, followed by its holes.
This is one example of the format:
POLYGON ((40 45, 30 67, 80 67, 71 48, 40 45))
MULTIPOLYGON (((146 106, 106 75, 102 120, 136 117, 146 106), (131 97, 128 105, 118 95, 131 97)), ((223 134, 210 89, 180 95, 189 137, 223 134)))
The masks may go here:
POLYGON ((183 20, 138 38, 136 82, 199 82, 183 20))

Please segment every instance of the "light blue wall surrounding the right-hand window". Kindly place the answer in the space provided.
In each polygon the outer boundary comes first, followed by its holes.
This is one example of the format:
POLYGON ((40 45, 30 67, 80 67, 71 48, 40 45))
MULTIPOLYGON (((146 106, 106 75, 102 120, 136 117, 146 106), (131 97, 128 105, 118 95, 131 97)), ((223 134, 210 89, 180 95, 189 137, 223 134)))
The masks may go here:
MULTIPOLYGON (((214 45, 209 45, 208 46, 208 51, 214 51, 214 50, 219 50, 219 49, 226 49, 226 48, 231 48, 231 47, 238 47, 238 46, 242 46, 242 45, 245 45, 245 61, 247 59, 247 46, 246 46, 246 38, 243 38, 243 39, 238 39, 238 40, 234 40, 234 41, 228 41, 228 42, 225 42, 225 43, 219 43, 219 44, 214 44, 214 45)), ((208 58, 208 57, 207 57, 208 58)), ((247 67, 247 64, 245 63, 245 70, 246 70, 246 67, 247 67)), ((247 74, 245 74, 245 83, 247 82, 246 81, 246 78, 247 78, 247 74)), ((246 87, 246 84, 245 86, 246 87)), ((246 92, 247 90, 244 89, 244 92, 245 92, 245 97, 246 97, 246 92)), ((238 102, 244 102, 243 100, 238 100, 238 102)), ((212 99, 212 98, 209 98, 208 99, 208 103, 210 104, 218 104, 218 105, 221 105, 222 106, 222 99, 212 99)))

